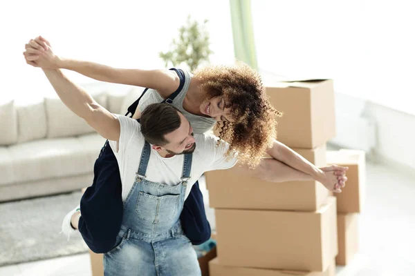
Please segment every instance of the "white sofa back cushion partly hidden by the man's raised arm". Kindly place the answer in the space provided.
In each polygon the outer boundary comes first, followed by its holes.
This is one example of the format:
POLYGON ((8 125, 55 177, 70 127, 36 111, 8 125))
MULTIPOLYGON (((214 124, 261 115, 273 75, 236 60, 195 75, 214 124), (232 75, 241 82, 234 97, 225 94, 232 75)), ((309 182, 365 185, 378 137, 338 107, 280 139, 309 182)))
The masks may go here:
MULTIPOLYGON (((93 95, 95 101, 107 108, 107 95, 99 93, 93 95)), ((93 128, 86 124, 84 119, 78 117, 57 97, 46 98, 46 118, 48 121, 48 131, 46 137, 71 137, 94 132, 93 128)))

